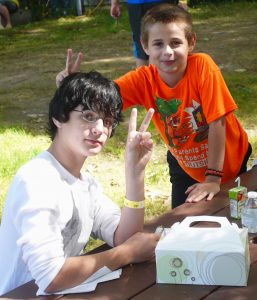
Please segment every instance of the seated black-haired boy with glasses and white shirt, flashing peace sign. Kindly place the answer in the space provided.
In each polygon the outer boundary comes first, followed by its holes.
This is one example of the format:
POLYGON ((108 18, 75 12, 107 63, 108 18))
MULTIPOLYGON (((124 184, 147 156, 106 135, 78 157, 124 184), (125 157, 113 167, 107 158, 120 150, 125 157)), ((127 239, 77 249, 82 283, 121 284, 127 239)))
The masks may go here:
MULTIPOLYGON (((48 150, 17 172, 0 227, 0 295, 34 279, 55 293, 84 282, 98 269, 115 270, 154 256, 159 236, 143 233, 144 171, 153 142, 150 109, 137 131, 131 113, 125 152, 124 208, 106 197, 87 157, 103 149, 121 121, 118 86, 98 72, 66 77, 49 105, 48 150), (81 256, 90 235, 111 248, 81 256)), ((104 171, 104 170, 103 170, 104 171)))

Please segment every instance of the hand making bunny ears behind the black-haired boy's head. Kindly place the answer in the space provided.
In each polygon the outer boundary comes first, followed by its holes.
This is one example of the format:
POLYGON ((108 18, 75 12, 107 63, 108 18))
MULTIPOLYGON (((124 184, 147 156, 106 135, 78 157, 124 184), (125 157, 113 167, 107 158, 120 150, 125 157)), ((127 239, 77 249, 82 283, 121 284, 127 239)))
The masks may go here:
POLYGON ((73 51, 72 51, 72 49, 68 49, 65 69, 62 70, 61 72, 59 72, 56 76, 56 86, 57 87, 59 87, 59 85, 61 84, 62 80, 65 77, 67 77, 68 75, 70 75, 72 73, 76 73, 76 72, 80 71, 80 64, 83 60, 82 52, 78 53, 78 56, 77 56, 75 62, 73 62, 72 57, 73 57, 73 51))

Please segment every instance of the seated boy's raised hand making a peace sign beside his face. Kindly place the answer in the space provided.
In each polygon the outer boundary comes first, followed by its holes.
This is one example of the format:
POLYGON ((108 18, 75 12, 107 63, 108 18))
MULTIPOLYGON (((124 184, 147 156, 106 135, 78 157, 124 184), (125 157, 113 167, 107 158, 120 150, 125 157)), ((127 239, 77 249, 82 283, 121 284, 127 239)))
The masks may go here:
POLYGON ((128 138, 125 151, 126 174, 141 174, 149 162, 153 150, 150 132, 147 132, 154 109, 150 108, 137 131, 137 109, 133 108, 129 120, 128 138), (127 173, 128 172, 128 173, 127 173))

